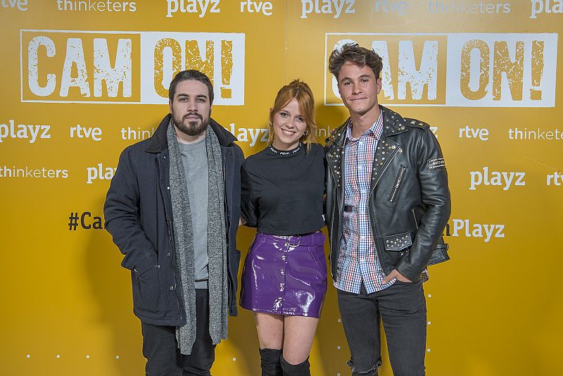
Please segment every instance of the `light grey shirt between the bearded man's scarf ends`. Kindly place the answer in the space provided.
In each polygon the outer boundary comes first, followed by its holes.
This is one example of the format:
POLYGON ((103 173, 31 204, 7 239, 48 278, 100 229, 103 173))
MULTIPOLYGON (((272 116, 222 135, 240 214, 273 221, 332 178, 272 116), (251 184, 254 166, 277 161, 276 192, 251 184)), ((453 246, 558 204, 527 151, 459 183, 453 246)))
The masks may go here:
POLYGON ((195 144, 178 143, 188 186, 191 228, 194 231, 196 289, 208 288, 207 206, 209 174, 205 139, 195 144))

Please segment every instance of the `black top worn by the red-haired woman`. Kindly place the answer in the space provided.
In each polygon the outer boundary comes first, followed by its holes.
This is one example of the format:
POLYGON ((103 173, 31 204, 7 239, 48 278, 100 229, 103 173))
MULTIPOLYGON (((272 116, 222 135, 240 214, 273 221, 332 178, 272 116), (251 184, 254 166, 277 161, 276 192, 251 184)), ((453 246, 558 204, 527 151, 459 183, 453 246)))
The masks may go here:
POLYGON ((324 227, 324 148, 273 146, 246 158, 241 170, 241 215, 258 232, 296 235, 324 227))

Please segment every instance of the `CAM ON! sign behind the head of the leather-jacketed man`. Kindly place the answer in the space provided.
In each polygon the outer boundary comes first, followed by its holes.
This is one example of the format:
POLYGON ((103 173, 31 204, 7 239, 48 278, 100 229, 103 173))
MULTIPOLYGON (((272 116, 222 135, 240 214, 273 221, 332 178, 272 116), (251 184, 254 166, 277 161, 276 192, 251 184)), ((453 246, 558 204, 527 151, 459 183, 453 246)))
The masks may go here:
MULTIPOLYGON (((391 106, 555 106, 557 34, 327 33, 324 42, 325 66, 343 44, 374 49, 391 106)), ((336 79, 324 74, 324 104, 343 106, 336 79)))

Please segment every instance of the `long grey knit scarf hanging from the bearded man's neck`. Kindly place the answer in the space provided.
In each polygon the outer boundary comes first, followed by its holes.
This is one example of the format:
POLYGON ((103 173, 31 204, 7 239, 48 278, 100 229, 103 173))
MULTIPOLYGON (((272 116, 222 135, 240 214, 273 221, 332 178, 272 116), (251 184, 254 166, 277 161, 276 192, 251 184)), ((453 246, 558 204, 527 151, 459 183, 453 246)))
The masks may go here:
MULTIPOLYGON (((170 153, 170 196, 176 246, 176 262, 182 282, 186 325, 176 328, 180 353, 189 355, 196 341, 196 291, 194 270, 194 233, 191 227, 188 189, 172 120, 167 130, 170 153)), ((229 289, 227 280, 227 229, 225 221, 224 181, 221 145, 209 125, 205 131, 209 170, 208 256, 209 256, 209 334, 213 344, 227 338, 229 289)))

